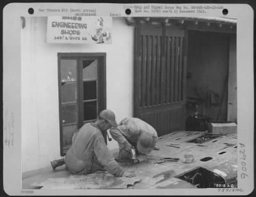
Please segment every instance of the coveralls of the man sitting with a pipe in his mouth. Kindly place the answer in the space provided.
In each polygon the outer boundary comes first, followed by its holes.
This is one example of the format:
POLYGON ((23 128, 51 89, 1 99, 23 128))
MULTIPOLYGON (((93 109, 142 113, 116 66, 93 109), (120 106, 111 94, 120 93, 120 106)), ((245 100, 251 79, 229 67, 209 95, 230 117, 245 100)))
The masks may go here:
POLYGON ((86 123, 74 134, 72 146, 68 149, 65 164, 70 173, 86 175, 97 169, 106 169, 115 176, 124 175, 95 123, 86 123))

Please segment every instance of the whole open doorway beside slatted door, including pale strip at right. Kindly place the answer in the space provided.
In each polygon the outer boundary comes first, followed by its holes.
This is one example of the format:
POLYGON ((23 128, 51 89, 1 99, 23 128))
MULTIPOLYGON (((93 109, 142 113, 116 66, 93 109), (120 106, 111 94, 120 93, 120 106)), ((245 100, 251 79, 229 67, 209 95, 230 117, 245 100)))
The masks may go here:
POLYGON ((237 122, 236 35, 188 31, 186 79, 186 130, 207 130, 208 122, 237 122), (193 125, 191 116, 200 121, 193 125))

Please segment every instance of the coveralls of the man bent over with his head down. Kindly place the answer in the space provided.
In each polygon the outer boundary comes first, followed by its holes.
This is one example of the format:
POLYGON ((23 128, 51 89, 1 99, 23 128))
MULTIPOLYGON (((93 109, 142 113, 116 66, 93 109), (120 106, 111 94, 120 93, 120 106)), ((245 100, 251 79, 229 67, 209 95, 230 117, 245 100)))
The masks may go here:
MULTIPOLYGON (((143 132, 147 132, 152 136, 152 149, 156 145, 156 141, 158 139, 156 129, 140 118, 125 118, 118 124, 118 127, 112 127, 109 132, 111 136, 118 142, 120 152, 124 148, 125 141, 128 141, 132 146, 134 146, 134 148, 136 148, 140 135, 143 132), (122 125, 126 125, 127 129, 122 128, 122 125)), ((136 152, 138 154, 136 156, 138 161, 142 162, 147 159, 147 155, 141 154, 137 149, 136 152)))

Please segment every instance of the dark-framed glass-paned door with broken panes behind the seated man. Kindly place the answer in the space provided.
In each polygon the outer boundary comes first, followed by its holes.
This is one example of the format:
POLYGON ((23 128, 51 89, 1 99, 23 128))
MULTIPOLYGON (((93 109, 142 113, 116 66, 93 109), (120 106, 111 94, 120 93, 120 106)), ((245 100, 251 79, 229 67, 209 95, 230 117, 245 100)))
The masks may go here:
MULTIPOLYGON (((106 54, 58 53, 61 156, 84 123, 106 109, 106 54)), ((104 136, 106 140, 106 136, 104 136)))

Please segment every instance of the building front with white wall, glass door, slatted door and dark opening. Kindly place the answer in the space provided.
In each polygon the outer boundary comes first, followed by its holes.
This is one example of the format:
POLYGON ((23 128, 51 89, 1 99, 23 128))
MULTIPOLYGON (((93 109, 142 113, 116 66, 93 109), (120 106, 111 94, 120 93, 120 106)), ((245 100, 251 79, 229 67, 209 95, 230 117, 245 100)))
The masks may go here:
POLYGON ((63 157, 106 108, 159 136, 185 129, 188 97, 212 120, 237 122, 236 22, 114 17, 112 28, 111 44, 47 43, 47 17, 21 20, 22 172, 63 157))

